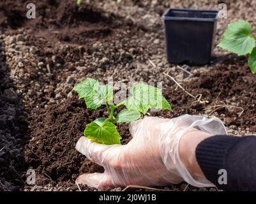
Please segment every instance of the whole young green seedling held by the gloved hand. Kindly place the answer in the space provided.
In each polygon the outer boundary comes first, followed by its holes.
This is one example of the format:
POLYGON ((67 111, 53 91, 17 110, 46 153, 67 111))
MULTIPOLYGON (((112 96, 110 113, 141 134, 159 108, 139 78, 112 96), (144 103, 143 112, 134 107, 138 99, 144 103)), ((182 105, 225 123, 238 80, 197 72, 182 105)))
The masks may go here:
POLYGON ((93 78, 86 78, 75 85, 72 91, 77 92, 79 99, 84 99, 87 108, 96 110, 103 103, 105 104, 109 117, 100 117, 87 124, 84 136, 106 145, 120 144, 121 136, 115 126, 116 122, 137 120, 140 118, 140 113, 146 114, 149 108, 172 110, 160 89, 142 82, 133 85, 130 89, 131 96, 117 105, 112 103, 112 87, 100 85, 98 80, 93 78), (126 106, 126 109, 114 115, 114 110, 121 105, 126 106))

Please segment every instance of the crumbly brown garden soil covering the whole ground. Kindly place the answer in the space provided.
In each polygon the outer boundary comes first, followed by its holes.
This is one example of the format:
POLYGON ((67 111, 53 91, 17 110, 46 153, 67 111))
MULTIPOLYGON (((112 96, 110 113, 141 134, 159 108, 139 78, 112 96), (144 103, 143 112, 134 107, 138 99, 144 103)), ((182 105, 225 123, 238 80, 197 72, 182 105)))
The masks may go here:
MULTIPOLYGON (((0 2, 0 191, 79 191, 74 184, 79 174, 103 171, 75 150, 86 124, 106 114, 103 106, 86 109, 71 92, 86 77, 101 82, 113 77, 114 83, 126 84, 163 82, 163 95, 174 112, 150 115, 216 116, 230 135, 256 133, 256 77, 247 57, 215 48, 204 66, 166 62, 160 15, 169 6, 218 9, 218 1, 169 2, 0 2), (27 3, 36 5, 36 19, 26 18, 27 3), (188 96, 163 72, 197 97, 188 96), (26 183, 29 169, 36 171, 36 185, 26 183)), ((255 1, 224 2, 228 18, 218 21, 216 42, 227 24, 238 19, 251 22, 255 31, 255 1)), ((122 143, 128 143, 128 124, 118 129, 122 143)), ((218 190, 185 183, 161 189, 218 190)))

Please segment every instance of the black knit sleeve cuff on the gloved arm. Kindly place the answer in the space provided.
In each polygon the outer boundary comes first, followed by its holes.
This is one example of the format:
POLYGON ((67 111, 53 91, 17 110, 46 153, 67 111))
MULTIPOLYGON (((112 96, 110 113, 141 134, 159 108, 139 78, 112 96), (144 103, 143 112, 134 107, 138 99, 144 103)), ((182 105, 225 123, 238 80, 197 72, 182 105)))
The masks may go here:
POLYGON ((206 178, 219 189, 256 191, 256 136, 212 136, 199 143, 195 154, 206 178))

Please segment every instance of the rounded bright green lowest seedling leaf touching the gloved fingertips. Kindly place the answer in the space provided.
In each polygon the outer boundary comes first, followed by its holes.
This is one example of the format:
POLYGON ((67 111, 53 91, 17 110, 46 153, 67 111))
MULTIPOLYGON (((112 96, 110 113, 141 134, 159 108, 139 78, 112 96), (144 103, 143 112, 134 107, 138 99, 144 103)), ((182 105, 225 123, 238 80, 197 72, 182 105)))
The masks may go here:
POLYGON ((112 122, 103 122, 101 125, 98 122, 94 121, 87 124, 86 129, 84 129, 84 136, 105 145, 120 144, 121 136, 116 126, 112 122))

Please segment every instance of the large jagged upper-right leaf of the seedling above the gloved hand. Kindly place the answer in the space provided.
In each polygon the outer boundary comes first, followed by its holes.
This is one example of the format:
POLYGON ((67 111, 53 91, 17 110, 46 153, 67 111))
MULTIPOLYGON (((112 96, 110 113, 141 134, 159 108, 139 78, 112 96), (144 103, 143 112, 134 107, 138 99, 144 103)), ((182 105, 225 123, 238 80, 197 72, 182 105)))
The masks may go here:
POLYGON ((124 101, 128 110, 135 110, 144 114, 149 108, 172 110, 168 101, 163 97, 162 91, 156 87, 140 82, 132 86, 130 93, 132 96, 124 101))

